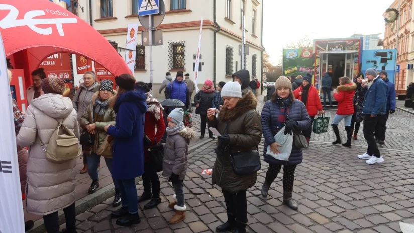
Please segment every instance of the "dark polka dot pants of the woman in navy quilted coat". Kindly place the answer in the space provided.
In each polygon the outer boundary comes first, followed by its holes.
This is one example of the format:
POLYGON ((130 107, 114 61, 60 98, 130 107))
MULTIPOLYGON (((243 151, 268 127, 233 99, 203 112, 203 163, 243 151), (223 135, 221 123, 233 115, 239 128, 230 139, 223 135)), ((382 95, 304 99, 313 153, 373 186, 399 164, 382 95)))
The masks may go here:
MULTIPOLYGON (((279 174, 282 165, 270 165, 266 172, 266 182, 268 184, 273 183, 279 174)), ((283 190, 286 192, 292 192, 293 181, 296 165, 284 165, 283 166, 283 190)))

